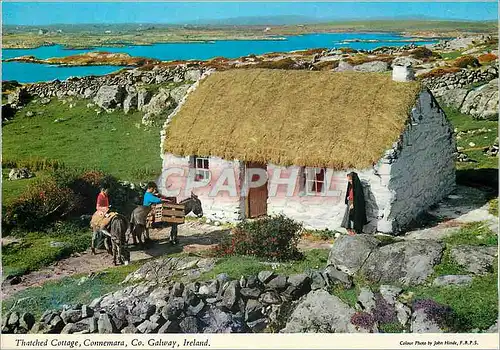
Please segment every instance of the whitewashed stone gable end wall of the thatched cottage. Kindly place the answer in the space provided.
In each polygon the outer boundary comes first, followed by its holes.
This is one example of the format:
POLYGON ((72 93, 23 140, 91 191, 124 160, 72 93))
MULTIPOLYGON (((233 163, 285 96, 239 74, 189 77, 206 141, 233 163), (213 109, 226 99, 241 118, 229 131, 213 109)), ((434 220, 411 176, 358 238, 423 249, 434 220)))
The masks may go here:
MULTIPOLYGON (((387 185, 393 198, 388 222, 392 231, 405 227, 453 191, 455 150, 444 112, 430 93, 422 92, 411 112, 411 124, 377 170, 381 176, 390 175, 387 185)), ((389 227, 384 231, 390 231, 389 227)))

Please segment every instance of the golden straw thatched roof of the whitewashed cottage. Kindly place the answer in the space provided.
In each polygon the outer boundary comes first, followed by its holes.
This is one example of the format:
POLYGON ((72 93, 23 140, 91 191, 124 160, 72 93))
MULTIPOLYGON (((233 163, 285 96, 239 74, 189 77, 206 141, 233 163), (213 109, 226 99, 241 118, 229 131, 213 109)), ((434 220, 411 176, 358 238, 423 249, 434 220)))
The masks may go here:
POLYGON ((391 148, 421 91, 390 74, 238 69, 202 80, 164 151, 280 165, 366 168, 391 148))

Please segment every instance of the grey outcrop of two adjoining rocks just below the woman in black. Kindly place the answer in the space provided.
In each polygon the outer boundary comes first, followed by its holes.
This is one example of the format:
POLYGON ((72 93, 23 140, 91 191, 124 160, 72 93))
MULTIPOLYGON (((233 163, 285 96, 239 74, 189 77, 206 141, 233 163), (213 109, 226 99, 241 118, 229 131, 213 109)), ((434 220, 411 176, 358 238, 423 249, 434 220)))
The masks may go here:
POLYGON ((328 265, 349 275, 359 272, 375 283, 418 285, 433 273, 443 250, 443 244, 433 240, 395 241, 380 246, 373 236, 341 236, 331 248, 328 265))

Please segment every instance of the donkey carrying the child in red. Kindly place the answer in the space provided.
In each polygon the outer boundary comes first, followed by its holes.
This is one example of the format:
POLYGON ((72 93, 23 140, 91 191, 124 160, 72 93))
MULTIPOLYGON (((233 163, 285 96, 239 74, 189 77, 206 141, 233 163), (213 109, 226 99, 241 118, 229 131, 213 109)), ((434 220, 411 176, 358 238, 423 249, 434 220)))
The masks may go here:
POLYGON ((113 255, 113 264, 128 265, 130 262, 130 252, 125 247, 127 236, 130 232, 127 218, 121 214, 115 214, 110 222, 102 228, 93 228, 92 236, 92 254, 95 254, 95 248, 99 241, 104 239, 104 246, 109 254, 113 255))

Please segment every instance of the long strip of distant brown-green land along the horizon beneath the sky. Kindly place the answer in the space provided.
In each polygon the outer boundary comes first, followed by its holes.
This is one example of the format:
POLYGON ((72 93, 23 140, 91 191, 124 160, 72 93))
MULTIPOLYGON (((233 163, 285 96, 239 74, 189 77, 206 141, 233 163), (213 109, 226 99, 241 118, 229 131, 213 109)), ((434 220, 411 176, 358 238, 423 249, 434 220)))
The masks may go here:
MULTIPOLYGON (((275 20, 276 21, 276 20, 275 20)), ((392 32, 413 38, 457 37, 498 31, 496 21, 365 20, 330 23, 235 25, 235 24, 77 24, 3 26, 4 49, 28 49, 62 45, 71 49, 152 45, 213 40, 279 40, 284 36, 311 33, 392 32)), ((279 22, 279 21, 278 21, 279 22)), ((246 23, 250 23, 246 21, 246 23)))

